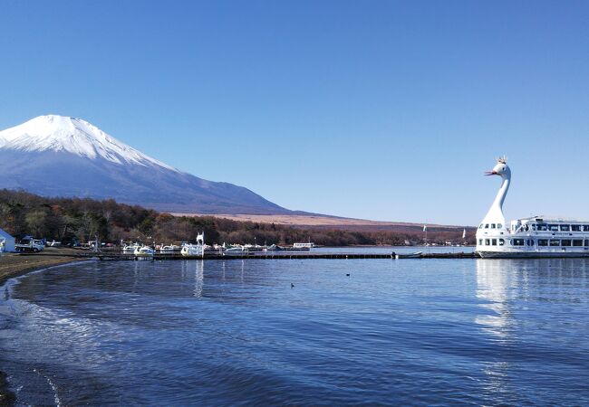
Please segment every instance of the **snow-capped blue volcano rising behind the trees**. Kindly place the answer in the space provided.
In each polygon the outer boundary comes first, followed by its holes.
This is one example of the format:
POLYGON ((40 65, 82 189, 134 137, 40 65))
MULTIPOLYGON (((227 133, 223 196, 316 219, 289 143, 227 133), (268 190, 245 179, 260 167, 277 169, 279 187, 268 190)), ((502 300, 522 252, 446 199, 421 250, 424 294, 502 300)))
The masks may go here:
POLYGON ((82 118, 40 116, 0 131, 0 188, 114 199, 178 213, 294 213, 243 186, 183 173, 82 118))

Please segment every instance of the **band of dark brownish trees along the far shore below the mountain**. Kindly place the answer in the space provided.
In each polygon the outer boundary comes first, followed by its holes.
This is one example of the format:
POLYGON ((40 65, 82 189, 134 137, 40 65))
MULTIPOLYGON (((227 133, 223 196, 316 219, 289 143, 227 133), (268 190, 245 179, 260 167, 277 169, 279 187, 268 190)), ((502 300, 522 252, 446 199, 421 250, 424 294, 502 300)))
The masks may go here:
MULTIPOLYGON (((205 232, 208 244, 257 243, 288 245, 314 241, 325 246, 399 245, 422 241, 414 231, 353 231, 293 227, 275 223, 240 222, 214 216, 172 216, 169 213, 119 204, 112 199, 48 198, 24 191, 0 190, 0 228, 16 238, 32 235, 49 241, 142 241, 165 243, 194 241, 205 232)), ((461 241, 461 231, 431 231, 428 241, 461 241)))

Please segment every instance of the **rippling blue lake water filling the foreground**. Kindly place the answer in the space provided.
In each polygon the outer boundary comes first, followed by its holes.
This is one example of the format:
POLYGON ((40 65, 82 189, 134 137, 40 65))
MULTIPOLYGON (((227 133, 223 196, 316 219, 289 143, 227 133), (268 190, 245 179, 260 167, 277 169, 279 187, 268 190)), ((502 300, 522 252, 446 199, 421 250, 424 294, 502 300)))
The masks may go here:
POLYGON ((22 403, 589 404, 589 260, 96 261, 0 298, 22 403))

